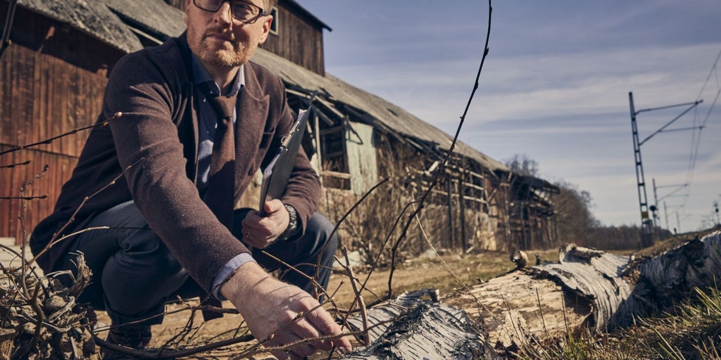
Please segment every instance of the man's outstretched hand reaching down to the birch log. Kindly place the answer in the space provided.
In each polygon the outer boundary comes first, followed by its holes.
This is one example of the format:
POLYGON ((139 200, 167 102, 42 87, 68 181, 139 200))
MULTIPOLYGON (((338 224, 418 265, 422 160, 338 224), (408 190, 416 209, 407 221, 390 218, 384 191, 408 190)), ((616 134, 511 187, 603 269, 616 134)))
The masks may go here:
MULTIPOLYGON (((253 262, 236 269, 220 292, 235 305, 258 341, 273 334, 270 341, 263 343, 265 346, 283 346, 341 333, 340 326, 310 294, 274 279, 253 262)), ((328 351, 333 346, 351 350, 347 338, 337 338, 301 343, 288 351, 273 351, 273 356, 278 359, 303 359, 319 350, 328 351)))

